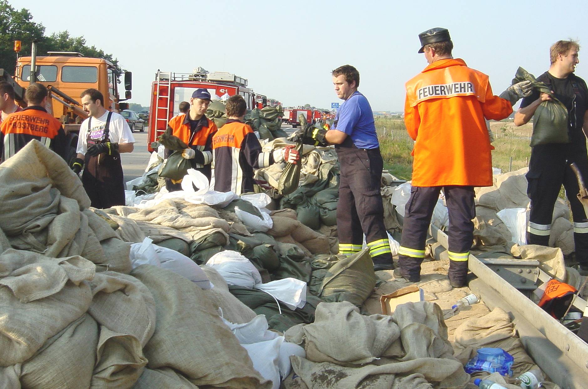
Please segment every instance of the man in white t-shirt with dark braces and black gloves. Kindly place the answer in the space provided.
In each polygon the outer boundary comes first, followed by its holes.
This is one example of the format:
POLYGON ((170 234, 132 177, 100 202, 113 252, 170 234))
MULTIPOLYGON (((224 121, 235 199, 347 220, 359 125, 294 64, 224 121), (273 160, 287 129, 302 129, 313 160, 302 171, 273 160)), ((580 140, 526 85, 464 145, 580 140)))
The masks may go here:
POLYGON ((92 207, 125 205, 121 153, 133 151, 135 138, 122 115, 106 111, 98 89, 82 92, 82 108, 89 118, 82 122, 78 138, 78 157, 71 168, 79 173, 92 207))

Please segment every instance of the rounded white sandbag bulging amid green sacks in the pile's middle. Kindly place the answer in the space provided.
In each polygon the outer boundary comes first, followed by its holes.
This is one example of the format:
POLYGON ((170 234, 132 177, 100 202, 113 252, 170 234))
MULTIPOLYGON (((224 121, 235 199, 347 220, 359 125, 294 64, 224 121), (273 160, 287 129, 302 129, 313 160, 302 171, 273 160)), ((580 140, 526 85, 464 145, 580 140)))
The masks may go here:
POLYGON ((206 262, 229 285, 253 289, 255 284, 261 284, 261 275, 251 261, 236 251, 225 250, 215 254, 206 262))

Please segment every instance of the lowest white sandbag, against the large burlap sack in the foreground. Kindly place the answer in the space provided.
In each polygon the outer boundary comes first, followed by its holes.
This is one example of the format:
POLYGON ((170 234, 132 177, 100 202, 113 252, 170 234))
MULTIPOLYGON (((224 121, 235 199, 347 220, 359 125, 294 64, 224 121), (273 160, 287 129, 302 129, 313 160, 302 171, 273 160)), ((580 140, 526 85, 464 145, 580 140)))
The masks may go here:
POLYGON ((284 337, 277 337, 265 342, 242 344, 253 362, 253 368, 263 378, 272 381, 272 389, 279 389, 280 387, 278 359, 280 356, 280 345, 282 345, 283 341, 284 337))

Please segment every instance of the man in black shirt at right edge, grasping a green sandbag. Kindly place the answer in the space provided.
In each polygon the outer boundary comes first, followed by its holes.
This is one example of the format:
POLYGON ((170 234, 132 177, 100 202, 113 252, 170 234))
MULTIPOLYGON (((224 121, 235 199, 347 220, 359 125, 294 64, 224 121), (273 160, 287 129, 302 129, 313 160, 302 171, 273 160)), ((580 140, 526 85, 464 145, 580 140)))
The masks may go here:
MULTIPOLYGON (((524 98, 515 114, 515 125, 533 121, 533 138, 529 172, 527 173, 527 195, 531 199, 527 243, 549 246, 553 207, 562 184, 566 188, 574 219, 574 244, 576 259, 582 275, 588 275, 588 222, 582 204, 576 197, 580 191, 578 182, 569 165, 576 163, 583 178, 588 178, 588 157, 586 155, 587 94, 586 82, 574 75, 580 46, 574 41, 557 41, 549 49, 551 65, 549 70, 537 77, 537 81, 549 85, 553 97, 567 109, 567 121, 562 121, 562 139, 550 138, 543 142, 536 137, 537 124, 543 120, 549 104, 556 105, 547 93, 535 90, 524 98)), ((554 118, 552 118, 552 122, 554 118)), ((548 123, 549 124, 549 123, 548 123)), ((550 132, 558 131, 552 128, 550 132)))

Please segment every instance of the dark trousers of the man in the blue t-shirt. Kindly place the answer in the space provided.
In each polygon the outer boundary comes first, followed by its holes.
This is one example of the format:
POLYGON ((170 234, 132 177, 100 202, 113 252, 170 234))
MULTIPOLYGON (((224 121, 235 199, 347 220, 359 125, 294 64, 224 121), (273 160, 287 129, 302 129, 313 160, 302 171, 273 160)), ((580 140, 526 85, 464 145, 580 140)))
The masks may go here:
POLYGON ((362 250, 363 234, 375 264, 392 264, 392 251, 380 195, 383 161, 380 149, 360 149, 348 137, 336 145, 341 177, 337 206, 339 254, 362 250))

